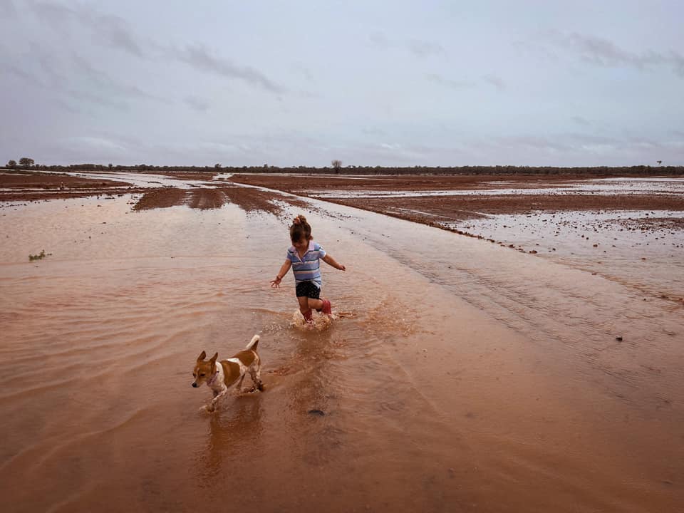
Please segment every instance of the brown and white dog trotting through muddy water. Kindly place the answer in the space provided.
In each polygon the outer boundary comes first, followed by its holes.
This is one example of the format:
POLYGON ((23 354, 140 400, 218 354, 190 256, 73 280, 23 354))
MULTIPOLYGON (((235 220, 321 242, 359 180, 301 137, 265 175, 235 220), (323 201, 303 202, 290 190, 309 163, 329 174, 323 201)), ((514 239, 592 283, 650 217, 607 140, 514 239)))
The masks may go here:
POLYGON ((252 341, 247 344, 244 351, 240 351, 232 358, 222 360, 217 363, 216 359, 219 353, 215 353, 212 358, 204 361, 207 358, 207 353, 200 353, 197 357, 197 364, 192 371, 192 377, 195 381, 192 386, 195 388, 207 383, 207 386, 212 389, 214 398, 212 402, 207 405, 207 411, 214 411, 219 399, 228 392, 228 389, 237 383, 237 389, 242 386, 244 375, 249 372, 249 377, 252 378, 252 388, 249 390, 264 390, 264 385, 261 383, 261 358, 257 353, 257 345, 259 345, 259 335, 254 335, 252 341))

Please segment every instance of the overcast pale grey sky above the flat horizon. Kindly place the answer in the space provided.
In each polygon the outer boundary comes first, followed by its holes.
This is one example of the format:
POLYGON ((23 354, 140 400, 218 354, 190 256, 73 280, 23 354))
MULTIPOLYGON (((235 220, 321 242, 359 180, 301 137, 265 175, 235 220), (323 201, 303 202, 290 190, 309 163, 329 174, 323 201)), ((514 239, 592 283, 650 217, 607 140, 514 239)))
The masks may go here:
POLYGON ((684 165, 684 1, 0 0, 0 164, 684 165))

